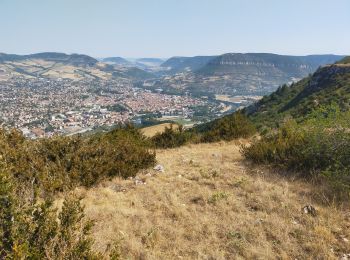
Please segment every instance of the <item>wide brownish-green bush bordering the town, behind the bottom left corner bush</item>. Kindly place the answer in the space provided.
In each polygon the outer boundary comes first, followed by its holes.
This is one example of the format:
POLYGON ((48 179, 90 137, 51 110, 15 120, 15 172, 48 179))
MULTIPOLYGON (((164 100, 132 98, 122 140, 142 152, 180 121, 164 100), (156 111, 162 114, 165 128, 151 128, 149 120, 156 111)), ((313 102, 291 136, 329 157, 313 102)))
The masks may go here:
POLYGON ((55 193, 103 179, 134 176, 155 163, 155 153, 134 127, 118 128, 90 137, 26 140, 19 132, 0 130, 0 163, 13 177, 55 193))

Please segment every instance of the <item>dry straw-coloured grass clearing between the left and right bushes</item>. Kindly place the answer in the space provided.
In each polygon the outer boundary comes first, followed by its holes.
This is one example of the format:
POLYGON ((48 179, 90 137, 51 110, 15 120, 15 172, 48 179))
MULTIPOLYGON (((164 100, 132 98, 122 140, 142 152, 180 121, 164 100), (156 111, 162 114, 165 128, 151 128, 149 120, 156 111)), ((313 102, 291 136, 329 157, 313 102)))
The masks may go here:
POLYGON ((95 249, 127 259, 337 259, 350 253, 349 208, 312 185, 246 165, 239 142, 158 151, 164 173, 80 189, 95 249), (301 208, 311 204, 317 216, 301 208))

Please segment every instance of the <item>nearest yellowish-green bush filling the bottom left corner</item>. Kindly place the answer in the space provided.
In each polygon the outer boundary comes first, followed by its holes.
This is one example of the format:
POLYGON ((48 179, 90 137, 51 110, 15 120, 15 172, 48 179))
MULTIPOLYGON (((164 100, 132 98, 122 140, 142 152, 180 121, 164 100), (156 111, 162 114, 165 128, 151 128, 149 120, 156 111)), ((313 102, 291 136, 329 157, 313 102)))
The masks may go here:
POLYGON ((1 259, 98 259, 91 250, 92 222, 80 199, 70 195, 58 214, 52 201, 21 196, 11 175, 0 173, 1 259))

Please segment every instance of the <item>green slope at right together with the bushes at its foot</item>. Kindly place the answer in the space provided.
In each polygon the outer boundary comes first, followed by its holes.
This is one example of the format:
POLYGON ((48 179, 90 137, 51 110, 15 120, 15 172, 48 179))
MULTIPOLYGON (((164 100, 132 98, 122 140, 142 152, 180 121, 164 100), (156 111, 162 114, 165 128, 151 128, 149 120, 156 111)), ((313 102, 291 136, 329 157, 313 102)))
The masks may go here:
POLYGON ((320 68, 292 85, 282 86, 245 112, 262 137, 242 149, 258 164, 326 178, 334 194, 349 196, 350 65, 320 68), (269 130, 269 128, 272 128, 269 130))

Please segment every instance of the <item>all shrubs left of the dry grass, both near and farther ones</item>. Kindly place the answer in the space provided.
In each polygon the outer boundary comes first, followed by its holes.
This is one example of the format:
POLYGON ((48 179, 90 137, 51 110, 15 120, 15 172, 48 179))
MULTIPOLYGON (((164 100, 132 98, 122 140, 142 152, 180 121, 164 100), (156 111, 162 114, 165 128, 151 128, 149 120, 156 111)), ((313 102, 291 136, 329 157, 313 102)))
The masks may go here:
MULTIPOLYGON (((134 127, 88 137, 28 140, 0 131, 0 258, 101 259, 92 251, 93 222, 69 191, 115 176, 127 178, 155 163, 134 127), (66 194, 62 208, 54 195, 66 194), (68 195, 67 195, 68 194, 68 195)), ((114 248, 106 252, 118 259, 114 248)))

